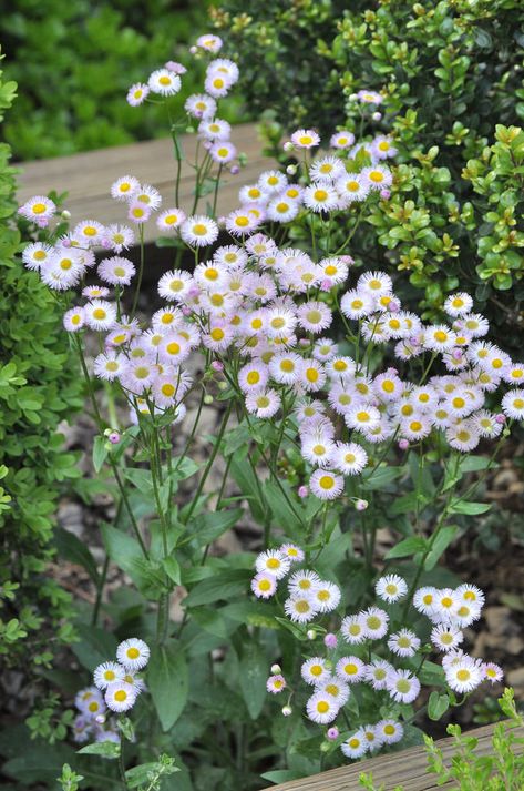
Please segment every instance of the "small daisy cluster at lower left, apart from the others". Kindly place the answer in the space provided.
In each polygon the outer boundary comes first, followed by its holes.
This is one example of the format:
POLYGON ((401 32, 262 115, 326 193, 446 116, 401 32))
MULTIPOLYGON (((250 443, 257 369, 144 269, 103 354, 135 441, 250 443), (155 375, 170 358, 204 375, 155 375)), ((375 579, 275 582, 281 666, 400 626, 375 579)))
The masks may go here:
POLYGON ((73 723, 75 741, 120 741, 115 722, 106 712, 122 713, 133 708, 138 694, 145 690, 140 671, 148 659, 147 643, 131 638, 117 647, 116 661, 99 665, 93 673, 93 686, 80 690, 74 699, 80 711, 73 723))

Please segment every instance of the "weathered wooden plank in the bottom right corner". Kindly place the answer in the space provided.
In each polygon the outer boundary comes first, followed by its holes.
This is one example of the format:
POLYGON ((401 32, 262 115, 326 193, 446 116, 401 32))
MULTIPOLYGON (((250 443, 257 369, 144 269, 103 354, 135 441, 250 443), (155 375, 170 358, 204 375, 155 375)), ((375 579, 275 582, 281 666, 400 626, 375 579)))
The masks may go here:
MULTIPOLYGON (((465 736, 475 737, 479 743, 475 748, 477 755, 489 755, 493 752, 492 736, 493 724, 483 726, 468 731, 465 736)), ((513 731, 518 737, 524 737, 524 727, 513 731)), ((454 739, 440 739, 436 746, 442 749, 444 758, 450 758, 454 752, 454 739)), ((523 751, 521 746, 520 751, 523 751)), ((435 775, 427 771, 428 760, 422 747, 412 747, 402 752, 377 755, 364 761, 359 761, 348 767, 339 767, 328 772, 320 772, 310 778, 291 780, 280 785, 268 787, 274 791, 361 791, 359 775, 362 772, 372 772, 377 787, 383 783, 386 791, 393 791, 395 785, 403 785, 404 791, 431 791, 436 789, 456 788, 455 782, 438 785, 435 775)))

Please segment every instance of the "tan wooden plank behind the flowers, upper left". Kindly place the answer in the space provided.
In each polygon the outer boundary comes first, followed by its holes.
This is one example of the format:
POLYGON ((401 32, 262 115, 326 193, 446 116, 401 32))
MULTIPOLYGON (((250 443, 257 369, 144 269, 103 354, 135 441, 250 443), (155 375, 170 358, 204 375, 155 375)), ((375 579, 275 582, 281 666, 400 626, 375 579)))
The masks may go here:
MULTIPOLYGON (((274 166, 273 160, 261 155, 261 143, 255 124, 234 126, 232 141, 247 155, 247 165, 237 175, 226 173, 219 190, 218 214, 227 214, 238 206, 238 191, 258 179, 260 171, 274 166)), ((196 135, 182 135, 186 160, 182 166, 181 207, 189 212, 193 205, 194 162, 196 135)), ((110 195, 111 184, 122 175, 134 175, 141 182, 155 186, 163 197, 163 206, 174 205, 176 162, 171 138, 130 145, 119 145, 99 151, 88 151, 38 162, 17 165, 19 175, 18 201, 23 203, 32 195, 45 195, 51 190, 68 192, 65 207, 74 225, 81 220, 99 220, 105 224, 125 223, 126 209, 110 195)), ((201 200, 198 211, 204 211, 209 196, 201 200)), ((154 219, 145 225, 145 240, 160 235, 154 219)))

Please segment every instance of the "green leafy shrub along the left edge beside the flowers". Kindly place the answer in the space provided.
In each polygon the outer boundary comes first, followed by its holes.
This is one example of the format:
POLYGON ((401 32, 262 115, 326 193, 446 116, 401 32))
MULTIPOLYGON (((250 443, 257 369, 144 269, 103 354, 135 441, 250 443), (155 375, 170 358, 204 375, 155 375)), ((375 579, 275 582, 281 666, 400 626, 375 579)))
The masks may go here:
MULTIPOLYGON (((0 72, 0 120, 16 89, 2 82, 0 72)), ((53 295, 17 257, 22 244, 13 223, 16 171, 9 159, 9 145, 1 144, 0 663, 23 667, 29 687, 31 680, 43 680, 56 648, 73 636, 70 596, 49 576, 48 566, 62 481, 80 476, 58 426, 82 402, 53 295)), ((44 688, 40 684, 37 709, 44 706, 44 688)), ((31 693, 25 688, 28 699, 31 693)))

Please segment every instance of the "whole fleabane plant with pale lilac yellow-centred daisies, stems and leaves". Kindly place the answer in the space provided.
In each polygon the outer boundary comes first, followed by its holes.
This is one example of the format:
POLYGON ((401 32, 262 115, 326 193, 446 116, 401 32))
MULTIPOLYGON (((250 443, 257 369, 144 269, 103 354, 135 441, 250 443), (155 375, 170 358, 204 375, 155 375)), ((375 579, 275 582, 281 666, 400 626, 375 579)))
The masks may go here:
MULTIPOLYGON (((236 210, 217 216, 222 180, 243 162, 229 125, 217 114, 238 78, 233 61, 215 57, 219 48, 213 36, 194 48, 209 62, 203 92, 185 102, 186 116, 173 114, 185 72, 179 63, 169 61, 127 95, 133 105, 165 103, 176 161, 174 204, 164 207, 153 185, 123 174, 111 185, 122 204, 122 224, 88 219, 59 235, 53 202, 35 196, 20 209, 33 234, 23 260, 63 311, 99 428, 94 467, 100 471, 106 463, 119 491, 114 525, 103 526, 107 556, 145 600, 156 602, 156 625, 151 626, 147 609, 141 639, 152 646, 146 680, 163 729, 168 731, 184 710, 187 657, 198 635, 212 635, 217 640, 212 648, 226 642, 226 656, 246 668, 240 678, 249 683, 240 684, 251 719, 261 712, 266 683, 278 692, 299 672, 315 686, 308 719, 329 724, 349 711, 343 752, 357 758, 370 749, 371 734, 377 744, 401 740, 402 721, 414 716, 404 707, 415 700, 421 682, 442 686, 445 700, 454 703, 454 692, 469 693, 484 677, 499 679, 499 669, 490 676, 489 666, 458 649, 461 629, 479 617, 482 594, 474 586, 428 587, 425 577, 463 529, 464 516, 485 510, 469 501, 482 476, 468 488, 461 481, 470 473, 485 475, 510 424, 523 418, 524 364, 490 343, 489 324, 468 293, 452 294, 441 321, 428 324, 402 304, 395 283, 380 267, 355 268, 351 235, 369 206, 389 196, 387 161, 395 150, 388 135, 356 141, 350 132, 333 130, 322 149, 314 129, 296 130, 285 143, 296 165, 265 171, 242 186, 236 210), (198 135, 195 190, 192 205, 181 205, 179 131, 188 123, 198 135), (210 202, 202 209, 205 195, 210 202), (352 230, 341 247, 331 247, 341 216, 352 230), (153 221, 176 253, 173 268, 157 283, 163 304, 145 315, 137 312, 144 225, 153 221), (307 243, 297 246, 304 227, 307 243), (136 237, 138 265, 125 255, 136 237), (90 348, 97 346, 93 361, 85 354, 88 334, 95 338, 90 348), (195 398, 196 416, 188 426, 187 403, 195 398), (124 425, 116 424, 115 399, 126 406, 124 425), (222 420, 207 458, 197 463, 193 440, 204 405, 214 399, 222 420), (175 454, 179 434, 185 445, 175 454), (471 455, 481 442, 491 444, 491 459, 471 455), (212 509, 205 487, 220 456, 212 509), (184 501, 179 483, 197 473, 193 496, 184 501), (261 527, 264 551, 255 578, 245 555, 209 557, 213 541, 242 519, 239 500, 248 503, 261 527), (388 568, 386 576, 376 557, 380 519, 389 519, 402 536, 386 557, 388 565, 401 559, 399 567, 388 568), (291 564, 279 611, 277 589, 291 564), (358 585, 351 576, 356 570, 358 585), (169 600, 181 585, 188 596, 175 629, 169 600), (402 613, 377 604, 374 588, 388 604, 403 598, 402 613), (245 599, 249 590, 253 596, 245 599), (242 602, 235 601, 239 594, 242 602), (224 600, 234 608, 227 610, 227 628, 226 608, 217 611, 224 600), (273 607, 269 615, 266 606, 273 607), (432 630, 423 627, 418 635, 414 621, 421 613, 432 630), (233 627, 230 618, 237 619, 233 627), (327 655, 300 658, 295 668, 288 663, 298 661, 297 651, 289 659, 280 656, 253 629, 269 626, 289 648, 289 631, 309 639, 307 625, 317 618, 320 627, 311 639, 323 629, 327 655), (361 639, 352 640, 356 647, 348 653, 343 643, 351 642, 353 629, 360 629, 361 639), (232 637, 237 630, 242 640, 232 637), (448 666, 424 678, 431 648, 423 647, 431 643, 456 650, 446 655, 448 666), (267 681, 263 653, 281 660, 286 673, 276 671, 267 681), (374 666, 384 672, 383 687, 370 676, 374 666), (311 670, 317 667, 318 678, 311 670), (366 683, 362 713, 360 693, 351 686, 357 679, 366 683), (379 709, 381 718, 373 719, 379 709), (359 743, 351 744, 356 739, 359 743)), ((358 100, 376 107, 380 94, 362 92, 358 100)), ((93 623, 102 591, 103 577, 93 623)), ((202 653, 198 642, 196 648, 202 653)), ((117 673, 116 692, 129 693, 134 703, 136 689, 129 689, 115 667, 110 670, 117 673)), ((233 683, 224 677, 220 682, 233 683)), ((112 689, 105 693, 110 708, 112 689)), ((284 708, 292 713, 292 707, 284 708)), ((441 702, 432 712, 443 710, 441 702)), ((339 732, 333 736, 331 729, 328 741, 340 743, 339 732)), ((244 753, 242 760, 247 760, 244 753)))

